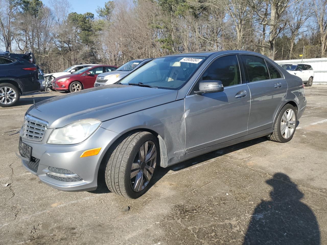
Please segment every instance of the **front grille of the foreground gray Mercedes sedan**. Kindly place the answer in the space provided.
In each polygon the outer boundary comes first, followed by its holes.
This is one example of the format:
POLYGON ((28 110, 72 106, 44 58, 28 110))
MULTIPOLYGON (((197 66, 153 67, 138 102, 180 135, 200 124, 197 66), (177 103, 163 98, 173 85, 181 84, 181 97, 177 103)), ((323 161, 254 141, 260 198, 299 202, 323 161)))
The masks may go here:
POLYGON ((25 116, 22 138, 41 141, 48 123, 30 115, 25 116))

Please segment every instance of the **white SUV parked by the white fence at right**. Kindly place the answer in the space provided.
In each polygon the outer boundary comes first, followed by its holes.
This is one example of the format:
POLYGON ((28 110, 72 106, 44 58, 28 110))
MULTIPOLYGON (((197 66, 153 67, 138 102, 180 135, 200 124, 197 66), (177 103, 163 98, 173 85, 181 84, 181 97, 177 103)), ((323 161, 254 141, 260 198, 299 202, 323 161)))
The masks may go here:
POLYGON ((311 65, 306 64, 283 64, 281 65, 286 71, 292 75, 300 77, 305 86, 311 86, 315 72, 311 65))

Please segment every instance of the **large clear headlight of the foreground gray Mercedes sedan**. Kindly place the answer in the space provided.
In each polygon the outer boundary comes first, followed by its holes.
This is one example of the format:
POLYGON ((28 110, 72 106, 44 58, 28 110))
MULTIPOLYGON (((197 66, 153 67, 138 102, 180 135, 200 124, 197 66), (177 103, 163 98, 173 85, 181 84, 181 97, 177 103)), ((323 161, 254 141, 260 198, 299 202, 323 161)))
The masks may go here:
POLYGON ((97 119, 84 119, 52 131, 48 143, 70 145, 87 139, 100 126, 97 119))

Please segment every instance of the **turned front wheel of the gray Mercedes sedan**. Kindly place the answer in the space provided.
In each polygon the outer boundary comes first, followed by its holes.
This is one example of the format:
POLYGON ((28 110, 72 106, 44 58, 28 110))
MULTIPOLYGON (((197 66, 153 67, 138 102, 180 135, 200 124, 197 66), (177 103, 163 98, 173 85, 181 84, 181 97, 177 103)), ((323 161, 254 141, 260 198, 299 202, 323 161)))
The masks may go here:
POLYGON ((113 147, 106 158, 107 187, 126 198, 142 196, 159 165, 157 138, 149 132, 132 132, 113 147))

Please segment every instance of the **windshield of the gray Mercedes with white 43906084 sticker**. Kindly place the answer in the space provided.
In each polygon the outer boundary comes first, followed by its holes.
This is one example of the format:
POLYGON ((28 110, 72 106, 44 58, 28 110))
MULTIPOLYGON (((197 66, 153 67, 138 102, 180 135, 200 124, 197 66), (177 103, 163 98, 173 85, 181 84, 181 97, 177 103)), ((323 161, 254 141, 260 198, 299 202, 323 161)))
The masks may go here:
POLYGON ((180 89, 194 74, 205 57, 170 56, 154 59, 120 80, 130 83, 155 86, 161 89, 180 89))

